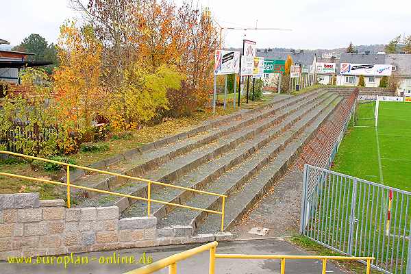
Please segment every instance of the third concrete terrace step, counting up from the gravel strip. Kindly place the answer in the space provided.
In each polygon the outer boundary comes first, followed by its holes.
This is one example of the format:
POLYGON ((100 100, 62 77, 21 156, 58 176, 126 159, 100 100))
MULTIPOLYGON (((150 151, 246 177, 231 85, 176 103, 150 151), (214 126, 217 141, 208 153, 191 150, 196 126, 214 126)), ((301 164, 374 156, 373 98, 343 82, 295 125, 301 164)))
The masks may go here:
MULTIPOLYGON (((286 120, 282 119, 281 123, 276 123, 271 127, 266 127, 264 131, 259 134, 255 134, 253 138, 236 143, 236 147, 231 151, 214 158, 214 160, 210 162, 201 164, 201 166, 197 169, 190 171, 190 173, 182 177, 179 177, 173 182, 173 184, 187 188, 202 189, 206 184, 219 177, 225 171, 251 157, 253 153, 256 153, 256 151, 260 149, 260 147, 276 138, 279 134, 299 121, 301 117, 306 114, 306 112, 320 106, 321 103, 329 97, 335 97, 335 95, 332 95, 332 93, 327 93, 325 95, 321 95, 321 97, 317 97, 315 102, 304 103, 303 108, 296 106, 295 110, 297 111, 292 111, 291 113, 288 112, 289 116, 286 117, 286 120)), ((283 116, 286 113, 287 110, 283 110, 277 115, 283 116)), ((187 199, 192 197, 192 192, 177 188, 162 188, 161 190, 151 192, 151 197, 153 199, 168 201, 171 203, 184 203, 187 199)), ((151 204, 151 212, 157 218, 163 218, 166 216, 167 212, 170 212, 172 209, 173 206, 165 206, 160 203, 151 204)), ((123 212, 124 217, 145 216, 145 214, 147 214, 147 203, 140 201, 137 201, 130 206, 129 209, 123 212)))

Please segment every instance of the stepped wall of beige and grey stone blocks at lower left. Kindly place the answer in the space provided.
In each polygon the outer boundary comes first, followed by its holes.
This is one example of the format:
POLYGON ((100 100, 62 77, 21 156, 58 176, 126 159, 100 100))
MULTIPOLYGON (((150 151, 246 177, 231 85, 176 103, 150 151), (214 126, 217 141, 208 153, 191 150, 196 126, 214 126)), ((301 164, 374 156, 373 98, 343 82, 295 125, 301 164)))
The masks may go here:
POLYGON ((132 247, 229 240, 232 234, 193 236, 190 226, 157 228, 153 216, 119 219, 116 206, 66 208, 38 193, 0 195, 0 260, 132 247))

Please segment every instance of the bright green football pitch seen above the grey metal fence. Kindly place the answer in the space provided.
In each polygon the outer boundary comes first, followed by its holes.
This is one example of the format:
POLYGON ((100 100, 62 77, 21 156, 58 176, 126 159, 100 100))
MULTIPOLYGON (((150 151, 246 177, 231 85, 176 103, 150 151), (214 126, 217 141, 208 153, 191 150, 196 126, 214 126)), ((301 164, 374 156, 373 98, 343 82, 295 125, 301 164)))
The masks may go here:
POLYGON ((411 103, 361 101, 332 170, 411 191, 411 103))

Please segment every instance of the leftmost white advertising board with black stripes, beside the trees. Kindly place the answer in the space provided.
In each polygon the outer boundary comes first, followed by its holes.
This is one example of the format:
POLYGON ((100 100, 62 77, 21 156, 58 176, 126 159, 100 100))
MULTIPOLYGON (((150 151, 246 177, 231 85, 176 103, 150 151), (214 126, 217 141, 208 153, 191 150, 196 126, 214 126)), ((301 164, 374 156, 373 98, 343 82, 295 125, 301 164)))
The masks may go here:
POLYGON ((216 50, 214 61, 215 75, 238 73, 240 69, 240 52, 216 50))

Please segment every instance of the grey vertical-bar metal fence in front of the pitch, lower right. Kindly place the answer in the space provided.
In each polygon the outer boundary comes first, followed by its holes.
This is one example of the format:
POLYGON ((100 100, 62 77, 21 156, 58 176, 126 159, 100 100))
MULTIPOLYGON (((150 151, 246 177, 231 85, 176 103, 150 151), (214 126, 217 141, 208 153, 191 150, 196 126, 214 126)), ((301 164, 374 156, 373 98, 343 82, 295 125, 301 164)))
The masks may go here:
POLYGON ((411 273, 411 192, 306 164, 301 234, 384 273, 411 273))

